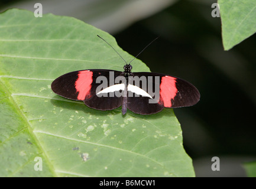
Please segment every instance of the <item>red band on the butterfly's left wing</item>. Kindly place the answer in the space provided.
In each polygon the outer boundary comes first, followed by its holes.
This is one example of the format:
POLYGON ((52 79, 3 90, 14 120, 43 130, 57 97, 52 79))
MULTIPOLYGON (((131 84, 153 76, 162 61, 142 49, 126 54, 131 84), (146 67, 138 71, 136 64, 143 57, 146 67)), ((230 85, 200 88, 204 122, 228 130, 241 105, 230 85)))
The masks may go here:
POLYGON ((76 91, 78 92, 77 100, 85 100, 86 94, 91 88, 90 84, 92 84, 92 74, 93 73, 90 70, 79 71, 75 83, 76 91))

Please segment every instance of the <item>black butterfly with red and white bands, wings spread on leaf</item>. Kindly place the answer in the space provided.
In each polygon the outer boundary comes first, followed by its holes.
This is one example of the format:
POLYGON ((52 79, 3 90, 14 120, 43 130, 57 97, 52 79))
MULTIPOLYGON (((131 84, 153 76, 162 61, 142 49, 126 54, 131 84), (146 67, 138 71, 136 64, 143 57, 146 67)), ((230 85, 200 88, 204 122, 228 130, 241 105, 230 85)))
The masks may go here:
POLYGON ((51 89, 59 96, 81 100, 97 110, 113 110, 122 106, 123 115, 127 109, 150 115, 165 107, 193 106, 200 99, 196 87, 183 79, 161 73, 133 73, 131 61, 125 63, 124 71, 89 69, 66 73, 51 83, 51 89))

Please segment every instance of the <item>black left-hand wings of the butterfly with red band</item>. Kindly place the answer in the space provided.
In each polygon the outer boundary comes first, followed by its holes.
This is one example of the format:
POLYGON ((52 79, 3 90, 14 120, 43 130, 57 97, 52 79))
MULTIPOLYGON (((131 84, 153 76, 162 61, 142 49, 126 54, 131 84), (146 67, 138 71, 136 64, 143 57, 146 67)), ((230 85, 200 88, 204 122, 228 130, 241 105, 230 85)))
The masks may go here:
MULTIPOLYGON (((51 84, 54 93, 72 100, 82 100, 85 105, 98 110, 112 110, 122 105, 122 97, 99 97, 96 94, 98 87, 109 87, 121 71, 114 70, 80 70, 73 71, 58 77, 51 84), (103 76, 102 80, 100 79, 103 76), (112 78, 111 78, 112 77, 112 78), (105 78, 105 84, 104 82, 105 78), (97 81, 97 79, 99 79, 97 81)), ((110 94, 107 94, 110 95, 110 94)))

